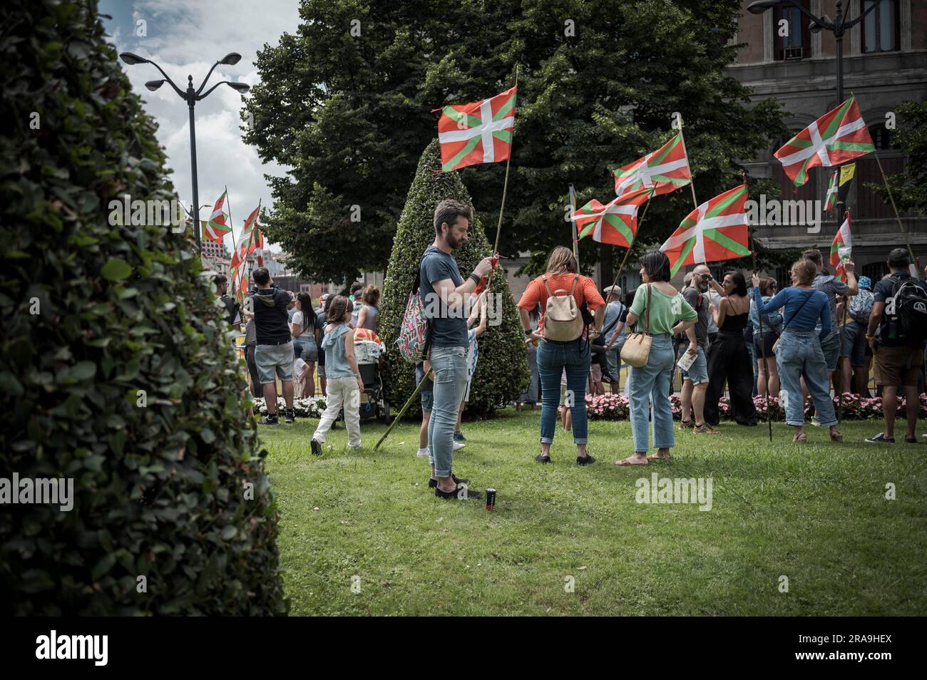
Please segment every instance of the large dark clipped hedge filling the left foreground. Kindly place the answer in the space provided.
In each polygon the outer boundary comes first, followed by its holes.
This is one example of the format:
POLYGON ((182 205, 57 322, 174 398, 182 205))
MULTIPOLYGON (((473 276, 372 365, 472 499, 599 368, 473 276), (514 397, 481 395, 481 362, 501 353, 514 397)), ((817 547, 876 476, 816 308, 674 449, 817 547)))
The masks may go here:
POLYGON ((7 0, 0 24, 0 477, 74 485, 70 511, 0 513, 0 611, 285 613, 213 288, 186 234, 108 224, 122 195, 175 197, 155 123, 95 2, 7 0))

